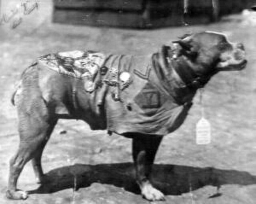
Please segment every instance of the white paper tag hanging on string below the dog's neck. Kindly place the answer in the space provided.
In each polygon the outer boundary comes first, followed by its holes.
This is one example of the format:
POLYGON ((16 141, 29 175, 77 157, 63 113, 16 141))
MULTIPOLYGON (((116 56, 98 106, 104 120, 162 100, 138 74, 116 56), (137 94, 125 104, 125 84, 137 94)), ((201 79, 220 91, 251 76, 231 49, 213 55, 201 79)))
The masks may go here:
POLYGON ((196 144, 211 143, 211 124, 202 117, 196 124, 196 144))

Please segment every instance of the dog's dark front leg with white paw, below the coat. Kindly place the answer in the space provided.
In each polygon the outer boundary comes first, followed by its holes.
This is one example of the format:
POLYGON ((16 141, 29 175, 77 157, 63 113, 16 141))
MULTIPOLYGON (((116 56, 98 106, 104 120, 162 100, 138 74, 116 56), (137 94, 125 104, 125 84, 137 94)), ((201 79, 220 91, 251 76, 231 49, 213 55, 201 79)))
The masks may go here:
POLYGON ((142 196, 150 201, 164 200, 164 194, 150 183, 152 164, 162 136, 136 134, 132 140, 132 154, 136 167, 136 180, 142 196))

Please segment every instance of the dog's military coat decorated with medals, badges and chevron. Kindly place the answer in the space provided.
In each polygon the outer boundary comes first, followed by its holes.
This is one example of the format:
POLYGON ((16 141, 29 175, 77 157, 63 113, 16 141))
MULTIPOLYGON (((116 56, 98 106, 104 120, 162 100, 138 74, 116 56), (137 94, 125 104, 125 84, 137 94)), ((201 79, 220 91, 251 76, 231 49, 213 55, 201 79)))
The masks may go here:
POLYGON ((76 98, 90 104, 91 118, 86 122, 94 130, 165 135, 184 122, 192 105, 192 97, 182 101, 177 94, 185 84, 166 65, 162 52, 142 56, 60 52, 39 58, 37 64, 82 82, 84 97, 77 92, 76 98))

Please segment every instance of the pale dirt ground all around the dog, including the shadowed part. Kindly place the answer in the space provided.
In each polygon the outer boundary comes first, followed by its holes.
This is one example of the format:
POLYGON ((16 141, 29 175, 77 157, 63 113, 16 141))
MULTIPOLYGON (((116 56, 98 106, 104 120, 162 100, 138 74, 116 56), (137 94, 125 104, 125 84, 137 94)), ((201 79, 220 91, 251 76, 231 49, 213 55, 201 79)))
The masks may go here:
MULTIPOLYGON (((2 12, 4 6, 6 11, 13 5, 2 3, 2 12)), ((243 42, 248 66, 241 72, 217 74, 205 88, 206 118, 212 126, 209 145, 195 142, 195 125, 200 119, 196 95, 184 124, 166 136, 160 146, 153 183, 166 194, 166 201, 160 202, 163 204, 256 202, 255 24, 247 23, 242 15, 233 15, 203 26, 123 30, 52 24, 51 12, 51 1, 42 1, 38 10, 22 16, 17 28, 10 29, 10 23, 0 25, 1 204, 149 203, 140 196, 134 180, 131 140, 92 131, 84 122, 75 120, 61 120, 44 151, 42 165, 51 182, 37 185, 29 163, 18 188, 29 191, 30 197, 25 201, 7 200, 8 162, 19 141, 10 96, 22 70, 37 56, 79 49, 149 54, 178 36, 202 30, 224 32, 230 40, 243 42)))

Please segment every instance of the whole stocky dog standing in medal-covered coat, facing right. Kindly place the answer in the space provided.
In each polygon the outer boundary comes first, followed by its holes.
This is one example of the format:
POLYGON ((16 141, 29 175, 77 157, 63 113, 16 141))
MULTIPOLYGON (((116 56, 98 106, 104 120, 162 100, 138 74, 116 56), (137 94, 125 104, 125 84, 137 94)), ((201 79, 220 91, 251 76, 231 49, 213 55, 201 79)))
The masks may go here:
POLYGON ((142 196, 164 200, 150 183, 163 136, 184 122, 198 88, 219 71, 242 70, 246 63, 243 44, 217 32, 186 34, 145 56, 77 50, 38 58, 12 96, 20 145, 10 160, 7 198, 28 198, 16 185, 29 160, 38 183, 44 183, 43 149, 58 119, 67 118, 132 138, 142 196))

